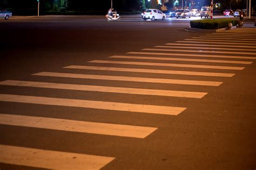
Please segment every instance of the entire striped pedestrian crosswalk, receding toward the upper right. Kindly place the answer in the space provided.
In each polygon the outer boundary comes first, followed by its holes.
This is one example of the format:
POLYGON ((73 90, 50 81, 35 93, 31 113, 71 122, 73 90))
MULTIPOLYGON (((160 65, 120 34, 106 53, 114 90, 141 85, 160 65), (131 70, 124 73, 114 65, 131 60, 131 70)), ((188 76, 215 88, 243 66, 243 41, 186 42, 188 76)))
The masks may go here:
MULTIPOLYGON (((36 88, 51 90, 89 91, 103 95, 125 94, 156 97, 180 97, 186 100, 200 100, 207 96, 205 87, 218 88, 229 77, 239 74, 241 70, 250 67, 256 60, 256 34, 252 33, 211 33, 200 37, 176 41, 137 52, 127 52, 124 55, 113 55, 105 60, 91 60, 85 65, 68 65, 63 72, 39 72, 32 77, 42 81, 4 80, 0 86, 12 88, 36 88), (239 40, 238 40, 239 39, 239 40), (226 41, 227 40, 227 41, 226 41), (242 42, 240 40, 243 40, 242 42), (241 48, 244 47, 244 48, 241 48), (187 70, 189 69, 189 70, 187 70), (91 70, 93 74, 86 71, 91 70), (215 71, 214 71, 215 70, 215 71), (86 72, 86 74, 84 74, 86 72), (112 73, 118 73, 116 75, 112 73), (140 76, 132 76, 139 73, 140 76), (155 76, 151 77, 150 74, 155 76), (146 75, 146 76, 143 76, 146 75), (188 75, 191 79, 170 79, 165 75, 188 75), (165 76, 165 77, 163 77, 165 76), (51 78, 69 79, 70 83, 52 82, 51 78), (205 77, 206 80, 197 80, 205 77), (214 78, 214 79, 213 79, 214 78), (220 79, 222 78, 222 79, 220 79), (219 81, 218 81, 219 79, 219 81), (118 83, 137 82, 140 87, 118 87, 104 84, 77 84, 73 80, 100 80, 118 83), (182 90, 147 88, 146 84, 178 84, 182 90), (187 87, 197 86, 200 91, 187 90, 187 87)), ((57 79, 58 80, 58 79, 57 79)), ((158 86, 157 86, 158 87, 158 86)), ((68 95, 67 95, 68 96, 68 95)), ((119 114, 132 112, 134 114, 154 114, 157 116, 178 116, 187 107, 179 105, 152 105, 137 101, 113 102, 89 99, 50 97, 43 95, 21 95, 1 92, 0 102, 58 106, 68 109, 89 108, 102 111, 117 111, 119 114)), ((8 114, 0 110, 0 124, 39 128, 45 130, 69 131, 71 133, 92 133, 122 138, 146 140, 146 137, 156 133, 158 127, 147 127, 129 124, 113 124, 86 122, 65 118, 52 118, 35 115, 25 115, 19 112, 8 114)), ((50 151, 39 148, 0 145, 0 162, 49 169, 100 169, 114 161, 115 155, 91 155, 73 152, 50 151)))

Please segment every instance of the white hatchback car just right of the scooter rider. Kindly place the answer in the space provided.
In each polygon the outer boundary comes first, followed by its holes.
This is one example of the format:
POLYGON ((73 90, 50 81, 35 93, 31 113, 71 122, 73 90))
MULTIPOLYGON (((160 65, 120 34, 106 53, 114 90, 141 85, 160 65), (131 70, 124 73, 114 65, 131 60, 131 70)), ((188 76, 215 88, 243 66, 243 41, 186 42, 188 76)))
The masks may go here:
POLYGON ((161 19, 161 20, 165 20, 165 13, 163 13, 162 11, 160 11, 158 9, 146 9, 142 13, 142 18, 144 20, 146 20, 146 19, 151 19, 151 20, 161 19))

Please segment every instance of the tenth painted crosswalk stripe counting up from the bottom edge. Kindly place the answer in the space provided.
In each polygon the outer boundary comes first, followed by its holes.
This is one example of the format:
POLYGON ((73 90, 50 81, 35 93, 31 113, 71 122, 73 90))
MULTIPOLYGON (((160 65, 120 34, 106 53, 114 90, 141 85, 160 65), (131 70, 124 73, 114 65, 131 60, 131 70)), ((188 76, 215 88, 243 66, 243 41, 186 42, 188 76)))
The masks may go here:
POLYGON ((220 53, 220 54, 246 54, 255 55, 256 53, 247 52, 229 52, 229 51, 203 51, 203 50, 186 50, 186 49, 159 49, 159 48, 144 48, 143 51, 171 51, 171 52, 190 52, 190 53, 220 53))

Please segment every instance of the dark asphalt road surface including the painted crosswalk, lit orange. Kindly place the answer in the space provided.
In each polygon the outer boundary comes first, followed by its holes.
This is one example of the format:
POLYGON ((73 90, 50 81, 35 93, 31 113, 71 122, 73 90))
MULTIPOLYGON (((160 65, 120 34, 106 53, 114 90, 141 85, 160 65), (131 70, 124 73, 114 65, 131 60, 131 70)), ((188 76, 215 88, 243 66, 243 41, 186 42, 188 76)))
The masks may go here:
POLYGON ((0 169, 255 169, 256 32, 191 19, 0 20, 0 169))

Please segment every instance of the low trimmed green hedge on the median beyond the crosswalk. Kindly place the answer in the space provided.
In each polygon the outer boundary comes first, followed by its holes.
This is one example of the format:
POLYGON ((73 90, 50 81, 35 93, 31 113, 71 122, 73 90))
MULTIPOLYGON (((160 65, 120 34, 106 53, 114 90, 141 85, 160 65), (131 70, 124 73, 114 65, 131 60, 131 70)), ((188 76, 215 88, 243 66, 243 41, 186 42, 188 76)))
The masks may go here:
POLYGON ((238 24, 238 20, 234 19, 200 19, 191 20, 191 28, 196 29, 207 29, 207 30, 217 30, 227 27, 228 23, 232 23, 233 26, 238 24))

